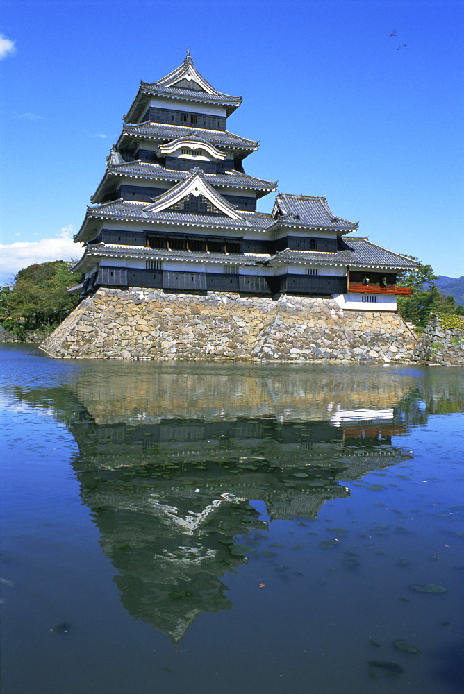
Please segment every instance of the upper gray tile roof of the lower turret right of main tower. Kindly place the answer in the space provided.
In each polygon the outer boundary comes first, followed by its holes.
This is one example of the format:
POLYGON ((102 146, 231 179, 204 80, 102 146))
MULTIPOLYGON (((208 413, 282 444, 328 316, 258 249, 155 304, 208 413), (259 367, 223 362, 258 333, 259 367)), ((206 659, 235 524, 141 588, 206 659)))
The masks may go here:
POLYGON ((276 220, 276 226, 324 228, 345 233, 358 228, 357 222, 336 217, 325 196, 278 193, 272 217, 276 220))

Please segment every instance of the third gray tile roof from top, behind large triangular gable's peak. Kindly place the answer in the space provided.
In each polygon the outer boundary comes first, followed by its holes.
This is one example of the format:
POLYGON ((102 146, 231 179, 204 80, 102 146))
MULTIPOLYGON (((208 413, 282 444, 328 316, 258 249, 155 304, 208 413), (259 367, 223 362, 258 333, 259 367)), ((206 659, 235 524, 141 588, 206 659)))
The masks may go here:
MULTIPOLYGON (((119 155, 120 156, 120 155, 119 155)), ((192 168, 195 162, 192 160, 192 168)), ((136 176, 138 178, 153 178, 154 180, 172 180, 179 181, 184 178, 189 178, 188 171, 176 171, 174 169, 165 169, 160 164, 149 164, 146 162, 134 161, 124 162, 120 160, 116 163, 114 157, 108 162, 108 171, 111 174, 119 174, 120 176, 136 176)), ((231 171, 225 174, 205 174, 205 179, 211 185, 224 185, 234 188, 248 188, 253 190, 275 190, 277 183, 254 176, 241 174, 240 171, 231 171)))

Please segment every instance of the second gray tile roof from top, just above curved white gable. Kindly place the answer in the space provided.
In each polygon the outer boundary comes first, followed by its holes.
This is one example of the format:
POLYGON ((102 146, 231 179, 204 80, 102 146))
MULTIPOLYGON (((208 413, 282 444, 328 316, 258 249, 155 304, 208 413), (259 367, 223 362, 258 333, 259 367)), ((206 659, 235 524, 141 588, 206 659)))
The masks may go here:
POLYGON ((191 126, 171 126, 164 123, 151 123, 149 121, 136 125, 124 125, 119 144, 124 135, 133 135, 139 139, 154 139, 156 142, 171 142, 178 137, 201 137, 210 144, 219 148, 232 151, 254 152, 258 149, 258 142, 253 139, 245 139, 240 135, 230 133, 229 130, 208 130, 207 128, 192 128, 191 126))

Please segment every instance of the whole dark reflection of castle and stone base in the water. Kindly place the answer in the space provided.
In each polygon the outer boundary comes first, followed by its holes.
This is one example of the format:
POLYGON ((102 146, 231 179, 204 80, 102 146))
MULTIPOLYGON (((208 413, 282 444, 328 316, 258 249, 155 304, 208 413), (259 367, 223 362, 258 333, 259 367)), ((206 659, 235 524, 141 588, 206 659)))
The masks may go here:
POLYGON ((392 437, 464 409, 451 379, 382 367, 98 362, 43 397, 78 443, 124 607, 176 642, 230 609, 220 577, 247 561, 241 536, 316 518, 350 480, 413 457, 392 437))

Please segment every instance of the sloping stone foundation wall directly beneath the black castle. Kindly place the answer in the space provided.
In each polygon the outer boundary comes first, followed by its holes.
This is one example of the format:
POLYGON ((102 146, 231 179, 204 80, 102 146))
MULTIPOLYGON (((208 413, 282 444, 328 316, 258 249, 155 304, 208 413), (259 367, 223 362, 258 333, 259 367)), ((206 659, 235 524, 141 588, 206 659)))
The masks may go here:
POLYGON ((417 338, 395 313, 282 295, 99 289, 41 345, 53 357, 412 362, 417 338))

